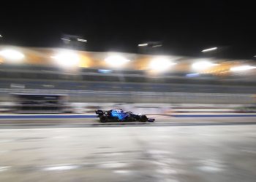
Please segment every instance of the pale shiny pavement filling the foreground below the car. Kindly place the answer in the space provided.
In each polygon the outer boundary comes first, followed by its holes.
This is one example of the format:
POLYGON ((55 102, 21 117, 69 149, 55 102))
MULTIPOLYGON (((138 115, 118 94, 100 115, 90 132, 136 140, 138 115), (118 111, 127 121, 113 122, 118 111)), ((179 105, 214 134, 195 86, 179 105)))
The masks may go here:
POLYGON ((0 181, 254 182, 256 125, 247 119, 1 126, 0 181))

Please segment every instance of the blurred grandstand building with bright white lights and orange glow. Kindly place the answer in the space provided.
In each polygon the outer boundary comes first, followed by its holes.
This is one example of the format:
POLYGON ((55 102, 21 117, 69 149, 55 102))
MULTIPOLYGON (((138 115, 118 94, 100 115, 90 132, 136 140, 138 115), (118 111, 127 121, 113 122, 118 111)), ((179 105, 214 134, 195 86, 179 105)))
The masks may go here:
MULTIPOLYGON (((189 100, 188 93, 255 94, 255 68, 252 60, 0 46, 1 90, 91 90, 94 96, 97 91, 129 92, 129 97, 132 92, 133 95, 135 92, 151 92, 150 96, 159 92, 186 93, 181 101, 195 102, 202 97, 189 100)), ((90 95, 90 92, 86 93, 90 95)), ((172 102, 164 96, 161 93, 159 98, 151 98, 147 102, 172 102)), ((234 97, 237 98, 236 95, 234 97)), ((0 101, 7 99, 0 96, 0 101)), ((113 102, 124 101, 122 98, 111 99, 113 102)), ((250 101, 247 99, 246 102, 250 101)), ((81 98, 78 97, 79 100, 81 98)), ((91 97, 90 101, 94 100, 91 97)), ((105 101, 108 100, 109 96, 105 101)), ((222 102, 224 99, 219 100, 222 102)))

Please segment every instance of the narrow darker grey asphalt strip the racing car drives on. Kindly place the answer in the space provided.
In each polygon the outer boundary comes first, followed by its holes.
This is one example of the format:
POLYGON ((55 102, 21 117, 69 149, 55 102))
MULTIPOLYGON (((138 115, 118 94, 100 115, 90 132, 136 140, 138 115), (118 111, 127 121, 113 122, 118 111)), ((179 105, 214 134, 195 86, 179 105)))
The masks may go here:
POLYGON ((157 116, 156 122, 106 122, 99 119, 1 119, 0 130, 6 128, 65 127, 171 127, 205 125, 256 124, 256 117, 174 118, 157 116))

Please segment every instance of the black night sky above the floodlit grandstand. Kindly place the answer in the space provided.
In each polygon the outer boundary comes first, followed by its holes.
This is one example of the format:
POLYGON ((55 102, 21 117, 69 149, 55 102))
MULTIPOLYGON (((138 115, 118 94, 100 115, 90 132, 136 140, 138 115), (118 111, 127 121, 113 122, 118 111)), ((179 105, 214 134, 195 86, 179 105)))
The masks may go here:
POLYGON ((162 41, 163 54, 249 58, 256 55, 256 10, 234 1, 1 2, 0 44, 59 47, 64 33, 83 36, 87 50, 138 52, 162 41))

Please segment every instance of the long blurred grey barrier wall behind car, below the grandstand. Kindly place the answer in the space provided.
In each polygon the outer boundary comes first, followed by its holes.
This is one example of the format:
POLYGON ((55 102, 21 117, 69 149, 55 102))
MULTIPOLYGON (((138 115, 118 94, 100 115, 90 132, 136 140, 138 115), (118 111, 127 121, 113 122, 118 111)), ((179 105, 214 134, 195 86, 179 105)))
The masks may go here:
POLYGON ((255 95, 191 92, 114 92, 94 90, 13 90, 1 89, 0 102, 14 102, 11 93, 47 93, 69 95, 71 103, 223 103, 253 104, 255 95))

